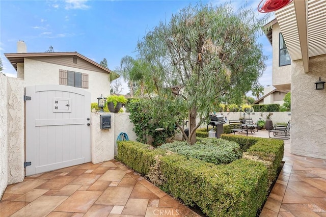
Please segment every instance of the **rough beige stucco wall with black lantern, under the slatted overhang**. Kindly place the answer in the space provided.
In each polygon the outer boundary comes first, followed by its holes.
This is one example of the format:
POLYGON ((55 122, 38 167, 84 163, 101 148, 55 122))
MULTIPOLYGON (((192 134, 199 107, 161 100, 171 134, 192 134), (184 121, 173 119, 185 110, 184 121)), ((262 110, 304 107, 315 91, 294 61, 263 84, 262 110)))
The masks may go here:
POLYGON ((326 55, 309 60, 304 73, 302 60, 292 62, 291 153, 326 159, 326 90, 315 82, 326 80, 326 55))

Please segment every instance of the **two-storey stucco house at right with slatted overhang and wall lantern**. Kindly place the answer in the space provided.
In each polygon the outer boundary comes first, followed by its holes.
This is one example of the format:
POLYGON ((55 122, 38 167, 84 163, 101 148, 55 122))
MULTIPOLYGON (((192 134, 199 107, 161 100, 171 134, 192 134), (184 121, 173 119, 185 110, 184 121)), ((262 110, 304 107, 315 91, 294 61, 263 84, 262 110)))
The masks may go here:
POLYGON ((273 46, 272 84, 291 91, 291 153, 326 159, 325 1, 294 0, 266 25, 273 46))

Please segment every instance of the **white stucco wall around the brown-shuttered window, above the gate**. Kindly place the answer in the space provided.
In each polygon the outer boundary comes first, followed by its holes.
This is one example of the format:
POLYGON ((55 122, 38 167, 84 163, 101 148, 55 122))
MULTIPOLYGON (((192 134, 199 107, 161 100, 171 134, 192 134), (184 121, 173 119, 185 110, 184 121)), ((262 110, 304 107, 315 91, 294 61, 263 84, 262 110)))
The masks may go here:
POLYGON ((89 78, 87 91, 91 93, 92 102, 97 102, 97 97, 101 96, 101 94, 103 96, 110 95, 110 80, 106 73, 45 63, 28 58, 25 58, 24 61, 25 86, 59 85, 59 69, 87 73, 89 78))

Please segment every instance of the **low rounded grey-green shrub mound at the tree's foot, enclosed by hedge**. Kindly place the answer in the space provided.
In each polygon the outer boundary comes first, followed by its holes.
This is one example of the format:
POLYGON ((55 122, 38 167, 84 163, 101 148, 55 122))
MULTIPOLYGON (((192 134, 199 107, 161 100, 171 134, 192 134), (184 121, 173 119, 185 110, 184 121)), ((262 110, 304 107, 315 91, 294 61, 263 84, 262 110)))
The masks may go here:
POLYGON ((163 144, 159 148, 182 154, 188 158, 212 162, 216 165, 229 164, 242 156, 238 144, 215 138, 198 138, 194 145, 175 141, 163 144))

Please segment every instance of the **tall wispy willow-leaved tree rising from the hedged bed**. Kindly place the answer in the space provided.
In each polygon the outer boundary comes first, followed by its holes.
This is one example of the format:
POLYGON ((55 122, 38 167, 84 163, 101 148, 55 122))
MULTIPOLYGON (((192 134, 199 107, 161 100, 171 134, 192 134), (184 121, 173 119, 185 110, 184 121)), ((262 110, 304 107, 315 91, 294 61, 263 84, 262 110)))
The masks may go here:
MULTIPOLYGON (((150 66, 146 82, 162 101, 173 98, 180 111, 187 111, 189 135, 183 135, 188 143, 196 142, 196 129, 221 96, 228 94, 240 103, 257 83, 265 69, 262 45, 257 43, 264 23, 251 9, 234 12, 229 4, 199 4, 180 10, 170 22, 160 22, 139 41, 141 58, 150 66), (202 118, 198 123, 197 116, 202 118)), ((152 108, 153 115, 171 109, 164 103, 152 108)), ((170 118, 182 130, 178 117, 170 118)))

